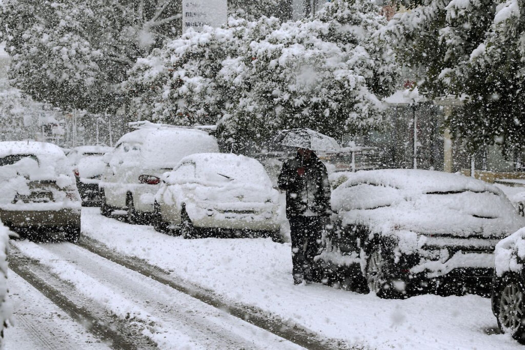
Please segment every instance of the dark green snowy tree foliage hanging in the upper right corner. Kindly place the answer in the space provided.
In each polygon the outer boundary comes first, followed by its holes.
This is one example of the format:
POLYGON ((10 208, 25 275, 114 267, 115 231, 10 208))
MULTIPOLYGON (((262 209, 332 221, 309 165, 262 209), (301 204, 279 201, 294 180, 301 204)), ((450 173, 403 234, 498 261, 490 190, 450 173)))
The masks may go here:
MULTIPOLYGON (((525 5, 519 0, 411 0, 384 32, 428 98, 466 97, 446 120, 472 152, 525 142, 525 5), (520 15, 521 14, 521 15, 520 15)), ((519 152, 521 150, 518 150, 519 152)))

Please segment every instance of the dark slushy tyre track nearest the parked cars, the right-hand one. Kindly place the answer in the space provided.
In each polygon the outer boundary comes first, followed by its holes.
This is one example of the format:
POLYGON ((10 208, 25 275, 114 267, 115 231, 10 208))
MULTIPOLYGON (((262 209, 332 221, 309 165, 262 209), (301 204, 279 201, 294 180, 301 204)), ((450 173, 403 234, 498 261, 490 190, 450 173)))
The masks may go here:
POLYGON ((91 237, 81 235, 81 239, 77 245, 130 270, 139 272, 155 281, 168 285, 177 291, 193 296, 195 299, 216 307, 219 310, 226 311, 241 320, 285 338, 286 340, 304 348, 311 350, 364 348, 362 346, 355 347, 338 340, 320 338, 316 334, 304 330, 295 323, 290 324, 285 320, 281 320, 278 316, 272 316, 264 310, 252 306, 228 302, 224 300, 224 298, 214 294, 212 291, 177 278, 169 272, 153 266, 144 260, 124 256, 91 237))

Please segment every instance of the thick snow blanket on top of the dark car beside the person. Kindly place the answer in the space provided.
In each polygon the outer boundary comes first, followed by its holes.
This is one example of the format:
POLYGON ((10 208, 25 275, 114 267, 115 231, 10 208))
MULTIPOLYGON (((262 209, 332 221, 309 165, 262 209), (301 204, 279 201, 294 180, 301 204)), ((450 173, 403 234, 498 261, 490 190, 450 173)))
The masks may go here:
POLYGON ((357 172, 334 190, 331 204, 343 225, 363 224, 382 234, 502 238, 525 226, 495 186, 435 171, 357 172))

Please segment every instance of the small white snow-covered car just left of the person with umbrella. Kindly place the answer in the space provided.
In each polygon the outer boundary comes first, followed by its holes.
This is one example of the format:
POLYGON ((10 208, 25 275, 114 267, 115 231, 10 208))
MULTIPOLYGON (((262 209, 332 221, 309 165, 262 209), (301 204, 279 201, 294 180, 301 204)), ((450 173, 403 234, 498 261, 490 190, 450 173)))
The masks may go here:
POLYGON ((272 237, 281 240, 279 193, 253 158, 220 153, 187 156, 163 176, 153 223, 184 238, 272 237))

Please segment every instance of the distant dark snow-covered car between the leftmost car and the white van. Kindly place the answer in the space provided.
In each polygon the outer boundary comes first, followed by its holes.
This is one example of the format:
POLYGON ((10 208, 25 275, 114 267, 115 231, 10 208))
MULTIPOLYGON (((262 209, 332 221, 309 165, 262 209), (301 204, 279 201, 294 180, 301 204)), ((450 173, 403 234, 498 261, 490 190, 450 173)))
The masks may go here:
POLYGON ((100 202, 99 182, 106 169, 104 155, 112 150, 113 147, 107 146, 79 146, 67 155, 74 168, 78 192, 83 204, 100 202))

